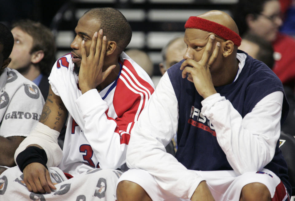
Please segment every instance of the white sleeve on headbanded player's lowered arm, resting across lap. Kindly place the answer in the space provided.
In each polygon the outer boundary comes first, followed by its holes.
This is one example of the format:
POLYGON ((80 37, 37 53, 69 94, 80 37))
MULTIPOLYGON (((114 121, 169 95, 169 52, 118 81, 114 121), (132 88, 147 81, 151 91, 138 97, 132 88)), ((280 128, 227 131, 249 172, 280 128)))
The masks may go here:
POLYGON ((148 171, 176 197, 191 198, 204 179, 165 150, 177 131, 178 117, 178 102, 165 73, 132 130, 126 163, 129 168, 148 171))

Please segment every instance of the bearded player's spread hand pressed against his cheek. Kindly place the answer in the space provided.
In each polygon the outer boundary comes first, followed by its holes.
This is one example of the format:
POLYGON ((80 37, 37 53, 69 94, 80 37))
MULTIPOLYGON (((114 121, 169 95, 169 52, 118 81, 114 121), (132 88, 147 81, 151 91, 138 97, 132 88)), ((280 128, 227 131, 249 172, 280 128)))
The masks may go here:
POLYGON ((95 32, 93 34, 88 57, 85 49, 85 41, 82 41, 82 60, 79 71, 79 87, 82 93, 95 89, 116 67, 116 65, 111 65, 102 72, 106 47, 107 37, 103 36, 102 29, 98 33, 95 32))

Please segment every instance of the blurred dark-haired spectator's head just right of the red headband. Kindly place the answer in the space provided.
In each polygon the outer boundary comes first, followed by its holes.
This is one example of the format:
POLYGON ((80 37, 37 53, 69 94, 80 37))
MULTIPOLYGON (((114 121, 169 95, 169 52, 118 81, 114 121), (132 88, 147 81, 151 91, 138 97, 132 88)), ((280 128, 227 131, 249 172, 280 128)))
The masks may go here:
POLYGON ((255 34, 245 34, 238 49, 248 53, 254 59, 264 62, 269 68, 273 68, 273 47, 264 38, 255 34))

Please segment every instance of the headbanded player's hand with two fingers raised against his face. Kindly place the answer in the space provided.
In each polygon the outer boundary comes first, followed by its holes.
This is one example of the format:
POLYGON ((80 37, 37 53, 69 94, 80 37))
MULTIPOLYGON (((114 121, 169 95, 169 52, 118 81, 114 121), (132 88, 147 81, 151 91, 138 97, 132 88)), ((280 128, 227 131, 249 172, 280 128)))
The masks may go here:
POLYGON ((220 49, 220 42, 217 42, 212 52, 214 39, 214 34, 211 34, 200 61, 187 59, 180 66, 180 70, 183 70, 182 78, 187 77, 187 80, 193 82, 198 93, 204 99, 217 93, 210 73, 210 66, 217 58, 220 49))

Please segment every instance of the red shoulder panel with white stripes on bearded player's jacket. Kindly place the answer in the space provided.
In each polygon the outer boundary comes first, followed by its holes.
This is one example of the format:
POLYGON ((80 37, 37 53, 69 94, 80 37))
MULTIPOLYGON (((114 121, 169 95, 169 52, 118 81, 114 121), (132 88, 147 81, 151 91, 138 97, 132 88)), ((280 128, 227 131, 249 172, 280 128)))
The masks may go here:
MULTIPOLYGON (((122 64, 121 61, 119 62, 122 64)), ((117 115, 117 128, 122 133, 120 135, 121 144, 129 143, 129 133, 134 126, 134 121, 137 120, 138 115, 147 104, 149 93, 152 94, 153 92, 154 88, 151 84, 141 78, 132 64, 124 59, 123 68, 117 80, 113 96, 113 107, 117 115), (130 126, 128 127, 128 125, 130 126)))

